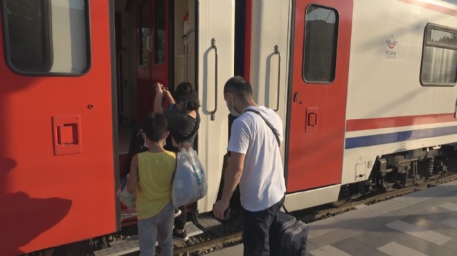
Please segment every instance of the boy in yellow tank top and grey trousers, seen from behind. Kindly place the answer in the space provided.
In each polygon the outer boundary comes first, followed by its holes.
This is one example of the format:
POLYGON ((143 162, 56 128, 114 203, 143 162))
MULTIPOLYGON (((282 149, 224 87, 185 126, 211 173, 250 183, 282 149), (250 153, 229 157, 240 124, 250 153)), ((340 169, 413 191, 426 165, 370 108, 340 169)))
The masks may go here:
POLYGON ((127 191, 136 192, 140 255, 154 255, 158 239, 161 255, 172 256, 174 208, 171 194, 176 155, 163 149, 168 136, 165 116, 149 114, 142 135, 149 150, 132 158, 127 181, 127 191))

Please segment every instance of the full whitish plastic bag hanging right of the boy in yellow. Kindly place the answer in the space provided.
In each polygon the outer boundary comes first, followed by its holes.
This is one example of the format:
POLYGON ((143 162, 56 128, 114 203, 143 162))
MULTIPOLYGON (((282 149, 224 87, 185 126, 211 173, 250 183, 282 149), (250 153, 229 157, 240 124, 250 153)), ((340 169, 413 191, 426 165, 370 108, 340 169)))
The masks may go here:
POLYGON ((172 201, 174 207, 186 205, 202 199, 208 191, 205 172, 197 152, 181 149, 178 153, 174 172, 172 201))

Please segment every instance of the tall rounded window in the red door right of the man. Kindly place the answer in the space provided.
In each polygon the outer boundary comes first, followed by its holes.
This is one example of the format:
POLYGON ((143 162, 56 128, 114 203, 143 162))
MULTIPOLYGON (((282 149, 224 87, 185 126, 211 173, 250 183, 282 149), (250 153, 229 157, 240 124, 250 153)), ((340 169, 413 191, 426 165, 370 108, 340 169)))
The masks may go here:
POLYGON ((306 9, 303 80, 328 84, 334 80, 337 60, 338 12, 310 5, 306 9))

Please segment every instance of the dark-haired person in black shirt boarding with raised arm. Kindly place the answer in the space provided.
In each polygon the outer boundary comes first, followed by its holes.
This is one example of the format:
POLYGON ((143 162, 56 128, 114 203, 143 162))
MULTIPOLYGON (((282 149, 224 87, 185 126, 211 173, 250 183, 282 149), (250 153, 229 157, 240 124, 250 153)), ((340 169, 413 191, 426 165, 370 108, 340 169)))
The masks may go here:
MULTIPOLYGON (((154 100, 154 113, 163 113, 168 120, 170 136, 163 147, 172 152, 178 152, 178 145, 189 143, 194 145, 195 137, 200 125, 198 109, 200 107, 197 91, 190 82, 181 82, 174 91, 174 98, 163 84, 154 84, 156 98, 154 100), (163 109, 162 100, 170 102, 169 109, 163 109)), ((181 215, 174 219, 173 237, 187 241, 188 236, 184 228, 186 224, 186 205, 179 207, 181 215)))

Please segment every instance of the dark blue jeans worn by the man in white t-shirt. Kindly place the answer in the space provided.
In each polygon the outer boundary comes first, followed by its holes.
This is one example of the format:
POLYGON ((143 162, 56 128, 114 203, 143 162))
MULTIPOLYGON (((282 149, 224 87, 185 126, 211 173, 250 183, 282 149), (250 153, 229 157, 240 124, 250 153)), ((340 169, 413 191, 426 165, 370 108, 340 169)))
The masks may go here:
POLYGON ((269 231, 276 214, 283 206, 284 197, 265 210, 250 212, 243 208, 243 245, 244 256, 269 256, 269 231))

